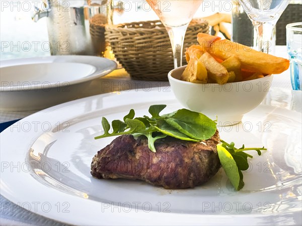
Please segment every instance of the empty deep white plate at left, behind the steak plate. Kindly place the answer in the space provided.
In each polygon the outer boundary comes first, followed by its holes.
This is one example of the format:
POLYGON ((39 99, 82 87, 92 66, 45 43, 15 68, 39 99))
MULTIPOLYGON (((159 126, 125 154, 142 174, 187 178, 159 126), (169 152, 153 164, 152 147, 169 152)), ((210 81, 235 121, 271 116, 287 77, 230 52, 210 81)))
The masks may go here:
POLYGON ((81 95, 116 63, 95 56, 48 56, 1 61, 2 110, 37 110, 81 95))

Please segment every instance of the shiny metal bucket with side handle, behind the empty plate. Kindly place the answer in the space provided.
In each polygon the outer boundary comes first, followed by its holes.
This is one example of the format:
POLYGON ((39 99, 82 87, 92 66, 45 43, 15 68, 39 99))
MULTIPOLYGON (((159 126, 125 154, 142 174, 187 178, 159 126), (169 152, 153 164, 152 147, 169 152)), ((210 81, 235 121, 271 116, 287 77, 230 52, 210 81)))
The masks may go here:
POLYGON ((33 20, 47 17, 47 29, 51 55, 98 55, 106 48, 100 37, 94 40, 91 26, 98 23, 112 24, 112 0, 43 1, 42 9, 36 8, 33 20))

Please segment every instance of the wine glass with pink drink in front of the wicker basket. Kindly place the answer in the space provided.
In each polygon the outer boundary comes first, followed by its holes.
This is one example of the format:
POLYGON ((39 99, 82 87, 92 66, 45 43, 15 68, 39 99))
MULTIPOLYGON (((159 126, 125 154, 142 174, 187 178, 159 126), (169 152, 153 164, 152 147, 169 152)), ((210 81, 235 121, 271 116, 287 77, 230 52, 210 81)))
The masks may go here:
POLYGON ((168 31, 175 68, 182 66, 184 37, 202 1, 203 0, 146 0, 168 31))

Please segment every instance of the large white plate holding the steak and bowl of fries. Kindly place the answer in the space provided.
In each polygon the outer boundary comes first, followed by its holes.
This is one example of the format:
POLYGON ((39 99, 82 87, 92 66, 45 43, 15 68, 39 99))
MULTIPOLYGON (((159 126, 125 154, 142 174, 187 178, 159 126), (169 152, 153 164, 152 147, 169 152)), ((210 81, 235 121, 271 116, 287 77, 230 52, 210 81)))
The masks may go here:
MULTIPOLYGON (((301 224, 300 92, 274 90, 243 118, 219 127, 220 137, 252 152, 245 186, 235 191, 223 170, 194 189, 166 190, 136 180, 99 180, 94 155, 113 138, 101 118, 123 119, 182 108, 170 87, 97 95, 33 114, 1 133, 1 194, 40 215, 70 224, 301 224)), ((222 109, 223 110, 223 109, 222 109)))

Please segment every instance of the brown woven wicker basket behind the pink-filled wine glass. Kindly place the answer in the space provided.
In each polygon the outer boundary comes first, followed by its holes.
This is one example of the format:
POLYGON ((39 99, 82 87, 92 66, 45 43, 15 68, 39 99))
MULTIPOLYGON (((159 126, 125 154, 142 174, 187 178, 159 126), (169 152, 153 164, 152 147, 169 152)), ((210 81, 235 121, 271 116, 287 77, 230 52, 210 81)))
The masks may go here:
MULTIPOLYGON (((188 27, 186 47, 197 44, 199 32, 208 33, 208 23, 193 20, 188 27)), ((166 81, 174 68, 172 47, 165 27, 160 21, 144 21, 105 28, 105 38, 111 44, 117 61, 132 79, 166 81)), ((186 64, 185 55, 183 65, 186 64)))

